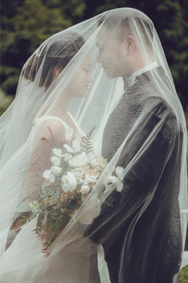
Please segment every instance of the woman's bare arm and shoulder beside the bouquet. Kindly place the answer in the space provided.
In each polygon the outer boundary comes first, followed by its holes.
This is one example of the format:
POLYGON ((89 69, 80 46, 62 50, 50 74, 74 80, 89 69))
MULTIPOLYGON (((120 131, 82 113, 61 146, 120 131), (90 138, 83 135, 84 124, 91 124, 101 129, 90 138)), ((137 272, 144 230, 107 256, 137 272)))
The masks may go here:
POLYGON ((64 127, 59 120, 48 119, 39 126, 35 135, 32 153, 30 155, 24 187, 25 197, 30 195, 25 200, 28 208, 30 202, 40 198, 41 185, 44 181, 42 173, 44 170, 50 169, 52 165, 51 156, 53 155, 52 149, 54 146, 48 142, 51 140, 51 133, 49 129, 53 132, 56 140, 65 140, 64 127))

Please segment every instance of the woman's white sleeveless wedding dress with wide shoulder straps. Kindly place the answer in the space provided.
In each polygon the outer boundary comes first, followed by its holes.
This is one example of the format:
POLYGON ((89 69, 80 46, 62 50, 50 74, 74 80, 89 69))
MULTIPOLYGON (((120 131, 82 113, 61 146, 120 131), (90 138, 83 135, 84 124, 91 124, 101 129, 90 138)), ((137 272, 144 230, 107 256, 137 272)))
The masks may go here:
MULTIPOLYGON (((73 117, 71 116, 73 119, 73 117)), ((59 120, 65 132, 65 140, 67 140, 72 134, 73 129, 67 125, 60 118, 55 116, 45 116, 35 120, 35 124, 31 130, 31 134, 37 130, 40 125, 48 119, 59 120)), ((85 134, 79 128, 75 120, 74 124, 77 126, 77 131, 81 137, 85 134)), ((35 135, 34 135, 35 136, 35 135)), ((94 145, 94 153, 100 155, 96 144, 94 145)), ((10 247, 6 250, 3 255, 3 263, 10 263, 11 269, 11 257, 12 255, 20 257, 23 256, 26 262, 29 260, 28 255, 30 252, 32 255, 36 253, 39 254, 41 251, 42 243, 40 240, 36 241, 36 234, 31 232, 36 227, 36 218, 27 223, 18 233, 16 238, 10 247)), ((40 239, 40 238, 39 238, 40 239)), ((78 243, 78 242, 77 242, 78 243)), ((72 243, 74 245, 74 243, 72 243)), ((71 252, 66 246, 58 252, 55 256, 47 258, 46 260, 39 261, 35 266, 16 268, 14 271, 10 271, 8 274, 2 278, 2 283, 110 283, 109 273, 107 264, 104 260, 104 251, 101 245, 97 247, 89 239, 85 241, 85 245, 88 245, 88 249, 85 249, 85 254, 79 255, 77 253, 71 252), (96 248, 98 251, 98 260, 90 260, 90 249, 96 248), (86 254, 87 253, 87 254, 86 254), (97 267, 98 262, 98 267, 97 267), (99 274, 95 276, 95 271, 99 269, 99 274), (71 271, 71 272, 70 272, 71 271), (90 275, 89 275, 90 274, 90 275), (8 275, 8 276, 7 276, 8 275), (90 277, 91 276, 91 280, 90 277), (100 276, 100 279, 99 279, 100 276)), ((73 249, 72 249, 73 250, 73 249)), ((41 259, 43 254, 41 254, 41 259)))

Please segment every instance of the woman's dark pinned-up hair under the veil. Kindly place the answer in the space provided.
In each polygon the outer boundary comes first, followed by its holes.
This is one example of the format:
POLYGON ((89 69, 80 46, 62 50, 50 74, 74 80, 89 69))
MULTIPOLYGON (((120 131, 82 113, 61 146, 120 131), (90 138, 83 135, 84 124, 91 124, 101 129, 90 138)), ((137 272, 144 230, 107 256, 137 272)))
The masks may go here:
POLYGON ((22 76, 33 82, 38 76, 39 86, 49 87, 54 80, 54 69, 62 71, 74 55, 85 43, 82 36, 76 32, 68 31, 65 34, 52 36, 48 44, 41 46, 24 67, 22 76))

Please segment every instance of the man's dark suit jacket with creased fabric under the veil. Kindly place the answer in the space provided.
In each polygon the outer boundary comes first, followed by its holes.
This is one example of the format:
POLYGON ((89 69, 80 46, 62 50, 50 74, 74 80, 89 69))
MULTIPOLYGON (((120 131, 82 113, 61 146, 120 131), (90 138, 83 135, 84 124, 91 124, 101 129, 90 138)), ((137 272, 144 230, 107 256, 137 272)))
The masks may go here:
POLYGON ((86 230, 90 239, 102 243, 111 283, 172 283, 181 265, 178 196, 183 131, 164 99, 165 91, 173 89, 163 68, 155 71, 161 80, 151 71, 138 76, 104 130, 102 155, 108 161, 126 138, 117 166, 125 168, 139 153, 122 191, 114 190, 106 199, 113 206, 102 206, 86 230), (161 88, 156 89, 156 80, 161 88))

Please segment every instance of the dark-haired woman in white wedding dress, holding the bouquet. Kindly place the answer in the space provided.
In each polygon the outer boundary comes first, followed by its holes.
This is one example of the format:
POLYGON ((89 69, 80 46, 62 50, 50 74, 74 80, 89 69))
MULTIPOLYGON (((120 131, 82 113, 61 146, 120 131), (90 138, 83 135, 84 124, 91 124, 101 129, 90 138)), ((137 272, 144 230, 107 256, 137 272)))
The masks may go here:
MULTIPOLYGON (((70 70, 66 71, 66 66, 74 58, 76 53, 78 53, 80 48, 83 47, 84 43, 83 37, 73 31, 67 31, 63 36, 55 35, 48 40, 47 44, 42 45, 39 50, 36 51, 22 70, 21 87, 16 99, 21 103, 25 102, 23 106, 27 108, 27 112, 23 109, 24 107, 21 108, 22 105, 19 104, 19 113, 16 113, 16 106, 18 107, 16 104, 13 114, 20 115, 19 120, 21 121, 26 119, 26 117, 30 119, 28 116, 33 114, 32 111, 34 109, 32 107, 37 108, 38 105, 36 104, 39 104, 41 99, 42 105, 40 105, 40 111, 37 113, 38 118, 34 119, 34 123, 31 124, 32 128, 25 144, 23 145, 20 140, 17 144, 16 141, 14 141, 14 148, 11 148, 12 150, 16 150, 19 147, 17 152, 20 152, 20 155, 24 154, 25 158, 30 155, 27 170, 23 172, 25 179, 24 184, 22 184, 24 187, 24 195, 22 196, 24 196, 24 198, 19 202, 21 192, 19 192, 20 195, 15 196, 18 197, 18 205, 15 208, 13 219, 16 219, 16 216, 19 214, 23 215, 19 207, 26 212, 24 215, 27 215, 28 208, 30 209, 30 203, 37 201, 42 193, 41 184, 44 179, 42 173, 45 168, 50 166, 52 150, 51 146, 42 138, 45 137, 46 140, 50 140, 50 135, 53 134, 56 136, 57 140, 67 141, 74 134, 76 141, 81 141, 81 138, 85 135, 72 115, 68 112, 67 108, 70 99, 73 97, 78 98, 80 102, 80 98, 86 95, 92 81, 90 73, 90 52, 84 55, 82 62, 78 66, 74 64, 74 70, 71 69, 73 76, 70 81, 67 83, 67 79, 64 79, 67 77, 67 73, 70 73, 70 70), (64 83, 65 81, 66 83, 64 83), (38 90, 34 92, 36 86, 38 90), (35 100, 35 105, 31 104, 32 100, 35 100), (28 111, 30 111, 30 113, 28 111), (26 147, 26 144, 28 144, 30 148, 28 146, 26 147), (27 208, 24 206, 23 200, 27 208)), ((17 102, 16 99, 15 103, 17 102)), ((23 134, 21 129, 19 130, 20 134, 23 134)), ((95 146, 95 153, 97 153, 96 148, 95 146)), ((8 154, 6 154, 6 148, 3 153, 4 156, 2 160, 8 156, 8 154)), ((19 162, 21 164, 20 159, 19 162)), ((14 166, 18 166, 18 159, 14 166)), ((20 171, 19 174, 21 173, 20 171)), ((21 182, 22 181, 23 180, 21 180, 21 182)), ((21 189, 22 188, 20 188, 20 191, 21 189)), ((16 192, 15 190, 15 193, 16 192)), ((84 247, 87 245, 87 250, 86 252, 82 252, 82 238, 80 236, 78 238, 75 234, 75 241, 72 241, 71 244, 67 243, 67 247, 65 245, 62 252, 60 251, 52 258, 47 260, 43 259, 43 261, 41 261, 42 248, 46 247, 47 240, 47 234, 45 233, 46 224, 44 221, 38 236, 32 232, 32 230, 35 229, 35 225, 36 222, 32 223, 31 221, 21 230, 13 230, 13 225, 10 226, 7 244, 6 247, 3 247, 5 253, 2 258, 2 265, 4 263, 4 269, 7 270, 5 274, 2 275, 2 282, 8 283, 13 280, 19 283, 89 282, 91 273, 94 274, 95 278, 95 281, 92 282, 99 282, 97 260, 94 258, 93 264, 91 264, 91 259, 89 260, 89 257, 91 257, 89 250, 94 248, 90 240, 86 241, 84 238, 84 247), (79 253, 76 252, 78 247, 79 253), (37 250, 38 254, 36 252, 37 250), (30 257, 29 251, 32 253, 33 259, 27 258, 27 264, 24 264, 26 257, 30 257), (12 259, 13 254, 17 262, 14 261, 15 259, 12 259), (23 257, 19 260, 21 255, 23 257), (35 263, 35 257, 37 258, 37 256, 40 261, 38 259, 38 261, 36 261, 37 264, 33 265, 35 263), (22 265, 21 268, 20 265, 22 265), (30 265, 31 267, 27 267, 30 265)), ((56 238, 60 235, 63 228, 61 227, 57 231, 56 238)))

